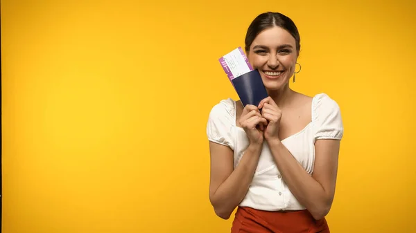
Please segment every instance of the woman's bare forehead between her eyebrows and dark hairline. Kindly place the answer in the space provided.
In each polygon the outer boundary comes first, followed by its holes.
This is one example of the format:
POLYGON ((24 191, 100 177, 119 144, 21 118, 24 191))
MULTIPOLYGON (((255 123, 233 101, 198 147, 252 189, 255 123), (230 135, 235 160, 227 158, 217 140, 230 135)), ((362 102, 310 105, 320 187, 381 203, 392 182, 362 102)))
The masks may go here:
POLYGON ((291 44, 295 47, 295 38, 287 30, 275 26, 273 28, 268 28, 263 30, 257 35, 254 39, 252 46, 263 45, 268 47, 276 47, 281 44, 291 44))

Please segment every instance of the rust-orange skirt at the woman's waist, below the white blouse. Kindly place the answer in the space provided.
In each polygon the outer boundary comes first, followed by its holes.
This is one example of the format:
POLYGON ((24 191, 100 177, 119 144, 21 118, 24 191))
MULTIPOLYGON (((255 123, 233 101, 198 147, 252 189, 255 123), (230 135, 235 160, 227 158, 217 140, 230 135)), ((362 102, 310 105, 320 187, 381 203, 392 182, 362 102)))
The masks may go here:
POLYGON ((325 218, 316 221, 308 210, 268 212, 239 207, 231 233, 329 233, 325 218))

